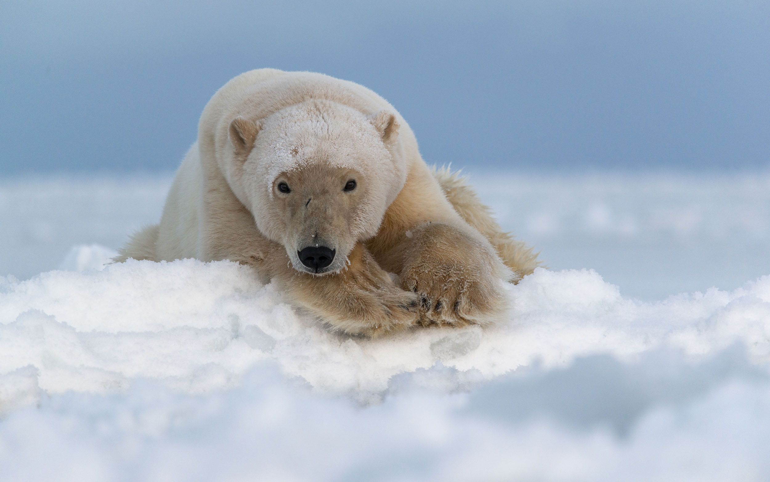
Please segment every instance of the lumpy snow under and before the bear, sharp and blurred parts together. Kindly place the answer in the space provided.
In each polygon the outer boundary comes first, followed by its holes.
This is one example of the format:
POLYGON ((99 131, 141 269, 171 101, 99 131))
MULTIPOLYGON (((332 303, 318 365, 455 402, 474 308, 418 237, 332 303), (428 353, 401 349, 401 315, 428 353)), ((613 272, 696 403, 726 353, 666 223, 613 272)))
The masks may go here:
POLYGON ((246 266, 110 255, 0 278, 0 480, 770 474, 770 276, 645 303, 537 269, 507 323, 367 340, 246 266))

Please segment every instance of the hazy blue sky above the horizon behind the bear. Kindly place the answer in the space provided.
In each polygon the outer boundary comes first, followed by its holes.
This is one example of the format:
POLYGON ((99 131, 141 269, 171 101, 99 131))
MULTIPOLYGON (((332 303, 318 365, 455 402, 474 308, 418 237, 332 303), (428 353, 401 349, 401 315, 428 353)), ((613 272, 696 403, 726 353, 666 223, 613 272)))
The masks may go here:
POLYGON ((0 3, 0 173, 176 167, 249 69, 390 100, 428 162, 766 169, 764 0, 0 3))

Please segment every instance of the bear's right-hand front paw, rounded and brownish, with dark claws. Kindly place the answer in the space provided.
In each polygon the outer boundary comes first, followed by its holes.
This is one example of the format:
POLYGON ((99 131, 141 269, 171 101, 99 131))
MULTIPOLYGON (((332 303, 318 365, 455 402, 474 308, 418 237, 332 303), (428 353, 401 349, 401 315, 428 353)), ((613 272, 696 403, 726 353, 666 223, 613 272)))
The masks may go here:
POLYGON ((420 297, 423 326, 489 323, 507 309, 500 261, 490 246, 453 226, 413 233, 401 286, 420 297))

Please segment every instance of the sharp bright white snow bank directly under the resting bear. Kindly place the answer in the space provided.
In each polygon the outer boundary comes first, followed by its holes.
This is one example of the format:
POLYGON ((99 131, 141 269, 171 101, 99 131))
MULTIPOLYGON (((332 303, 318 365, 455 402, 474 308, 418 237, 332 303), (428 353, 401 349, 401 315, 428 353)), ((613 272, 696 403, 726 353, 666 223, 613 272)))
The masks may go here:
POLYGON ((204 393, 234 387, 271 361, 318 393, 372 403, 394 375, 437 362, 478 381, 534 363, 626 358, 661 346, 702 355, 742 343, 752 360, 770 360, 770 276, 660 303, 628 300, 591 270, 538 269, 508 291, 509 323, 367 340, 328 332, 236 263, 52 271, 0 282, 0 373, 35 367, 44 393, 108 393, 138 377, 204 393))

